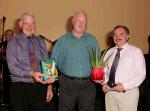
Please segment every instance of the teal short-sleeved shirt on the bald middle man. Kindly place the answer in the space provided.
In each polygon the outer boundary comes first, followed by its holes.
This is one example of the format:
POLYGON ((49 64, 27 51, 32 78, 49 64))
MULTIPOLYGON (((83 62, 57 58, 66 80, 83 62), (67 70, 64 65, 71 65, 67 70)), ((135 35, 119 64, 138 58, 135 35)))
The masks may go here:
POLYGON ((89 60, 90 48, 99 50, 95 37, 85 33, 82 37, 76 38, 72 32, 59 38, 56 42, 51 59, 56 61, 61 73, 71 77, 89 77, 91 63, 89 60))

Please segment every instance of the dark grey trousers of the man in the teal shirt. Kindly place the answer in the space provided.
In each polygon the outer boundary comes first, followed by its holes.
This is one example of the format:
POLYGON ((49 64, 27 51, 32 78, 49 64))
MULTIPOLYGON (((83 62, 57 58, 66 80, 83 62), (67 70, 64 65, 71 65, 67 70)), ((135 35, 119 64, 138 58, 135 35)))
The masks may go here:
POLYGON ((93 81, 72 80, 63 75, 59 78, 59 111, 95 111, 96 87, 93 81))

